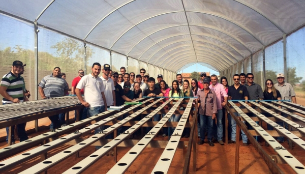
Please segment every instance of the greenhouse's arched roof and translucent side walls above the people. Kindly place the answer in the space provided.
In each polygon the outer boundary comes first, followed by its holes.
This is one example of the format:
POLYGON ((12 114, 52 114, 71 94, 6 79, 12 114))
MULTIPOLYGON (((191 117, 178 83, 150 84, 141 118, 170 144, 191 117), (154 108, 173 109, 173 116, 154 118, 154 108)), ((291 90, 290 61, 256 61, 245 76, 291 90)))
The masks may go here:
POLYGON ((54 67, 71 84, 95 62, 135 75, 144 68, 168 84, 194 65, 229 85, 234 74, 253 73, 263 89, 282 73, 305 105, 304 9, 301 0, 3 0, 0 72, 26 64, 30 100, 41 99, 39 82, 54 67))

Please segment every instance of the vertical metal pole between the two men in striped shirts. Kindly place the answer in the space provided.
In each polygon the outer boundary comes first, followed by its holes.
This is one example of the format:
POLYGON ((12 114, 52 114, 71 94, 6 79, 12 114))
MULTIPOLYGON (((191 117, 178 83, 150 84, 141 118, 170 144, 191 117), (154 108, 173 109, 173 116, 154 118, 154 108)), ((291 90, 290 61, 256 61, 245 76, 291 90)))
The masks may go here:
MULTIPOLYGON (((34 53, 35 53, 35 65, 34 65, 34 93, 35 93, 35 100, 38 100, 38 25, 37 22, 34 22, 34 36, 35 36, 35 46, 34 46, 34 53)), ((35 132, 38 132, 38 120, 35 120, 35 132)))

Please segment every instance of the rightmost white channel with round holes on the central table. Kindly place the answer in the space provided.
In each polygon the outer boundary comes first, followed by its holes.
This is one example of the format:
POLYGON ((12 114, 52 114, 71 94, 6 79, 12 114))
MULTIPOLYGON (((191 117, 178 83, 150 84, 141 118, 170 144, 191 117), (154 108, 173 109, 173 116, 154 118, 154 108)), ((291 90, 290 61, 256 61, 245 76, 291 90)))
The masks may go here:
POLYGON ((194 99, 190 99, 185 112, 182 114, 180 121, 178 122, 178 126, 175 128, 172 136, 169 139, 169 143, 167 144, 165 150, 163 151, 161 157, 159 158, 157 164, 155 165, 153 171, 151 173, 167 173, 170 164, 174 158, 175 152, 178 147, 179 140, 181 138, 182 132, 186 126, 187 120, 190 115, 191 107, 194 99))

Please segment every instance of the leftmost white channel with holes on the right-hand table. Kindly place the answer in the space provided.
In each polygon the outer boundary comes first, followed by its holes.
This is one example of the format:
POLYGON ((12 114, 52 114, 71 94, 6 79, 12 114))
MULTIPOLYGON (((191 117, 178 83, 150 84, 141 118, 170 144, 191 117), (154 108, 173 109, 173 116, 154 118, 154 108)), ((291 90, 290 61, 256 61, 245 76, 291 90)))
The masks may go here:
POLYGON ((262 127, 256 124, 246 113, 242 112, 242 110, 236 106, 233 102, 229 102, 233 106, 233 108, 241 115, 243 119, 245 119, 253 129, 260 134, 269 144, 270 146, 287 162, 288 165, 296 173, 304 173, 305 166, 300 163, 294 156, 292 156, 282 145, 276 141, 269 133, 267 133, 262 127))

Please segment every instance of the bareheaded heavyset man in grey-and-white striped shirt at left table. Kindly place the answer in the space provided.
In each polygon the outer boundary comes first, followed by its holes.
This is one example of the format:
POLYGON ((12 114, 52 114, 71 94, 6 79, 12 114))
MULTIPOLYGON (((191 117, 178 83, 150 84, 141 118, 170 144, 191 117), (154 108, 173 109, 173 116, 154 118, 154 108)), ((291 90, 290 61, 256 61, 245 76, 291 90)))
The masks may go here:
MULTIPOLYGON (((51 75, 45 76, 39 83, 39 94, 42 99, 51 97, 62 97, 68 93, 69 85, 60 75, 60 68, 55 67, 51 75)), ((58 120, 58 114, 49 117, 51 120, 50 130, 62 126, 58 120)))

